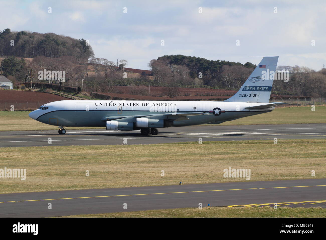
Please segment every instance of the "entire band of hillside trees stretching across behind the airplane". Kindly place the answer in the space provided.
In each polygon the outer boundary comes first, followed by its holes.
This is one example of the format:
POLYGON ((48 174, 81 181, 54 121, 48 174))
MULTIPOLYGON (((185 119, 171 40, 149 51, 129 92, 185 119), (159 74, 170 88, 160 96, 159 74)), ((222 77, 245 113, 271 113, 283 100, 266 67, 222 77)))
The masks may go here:
MULTIPOLYGON (((92 92, 116 92, 115 86, 160 86, 167 89, 167 95, 175 95, 178 92, 175 88, 178 87, 238 90, 256 67, 250 62, 241 64, 195 56, 169 55, 149 62, 148 66, 153 73, 149 76, 126 71, 127 60, 122 59, 116 63, 94 57, 91 46, 84 39, 5 29, 0 32, 0 43, 0 55, 8 56, 1 61, 1 74, 16 85, 22 82, 43 82, 79 87, 83 91, 92 92), (11 39, 14 39, 13 46, 10 46, 11 39), (26 62, 23 57, 33 59, 26 62), (44 69, 65 71, 66 81, 39 79, 38 72, 44 69)), ((277 70, 288 70, 291 74, 289 82, 274 80, 273 94, 326 97, 325 68, 314 71, 306 67, 279 66, 277 70)), ((147 94, 143 89, 137 89, 132 88, 128 93, 147 94)))

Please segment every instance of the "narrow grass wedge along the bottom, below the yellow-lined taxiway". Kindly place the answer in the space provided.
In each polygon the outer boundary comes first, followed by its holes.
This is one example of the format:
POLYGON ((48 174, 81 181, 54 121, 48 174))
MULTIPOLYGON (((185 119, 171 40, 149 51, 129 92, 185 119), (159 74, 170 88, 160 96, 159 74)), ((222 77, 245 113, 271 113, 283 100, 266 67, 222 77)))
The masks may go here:
POLYGON ((73 215, 64 217, 326 217, 326 208, 204 207, 148 210, 125 213, 73 215))

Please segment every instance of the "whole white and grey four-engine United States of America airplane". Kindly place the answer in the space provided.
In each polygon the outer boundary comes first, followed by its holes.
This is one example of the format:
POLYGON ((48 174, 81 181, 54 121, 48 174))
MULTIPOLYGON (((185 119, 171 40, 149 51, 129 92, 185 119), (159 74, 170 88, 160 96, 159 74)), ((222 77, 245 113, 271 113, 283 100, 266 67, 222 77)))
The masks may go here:
POLYGON ((239 91, 223 102, 64 100, 44 104, 29 117, 58 126, 59 134, 66 134, 65 127, 105 127, 157 135, 158 128, 219 124, 286 104, 269 103, 277 61, 278 56, 262 56, 239 91))

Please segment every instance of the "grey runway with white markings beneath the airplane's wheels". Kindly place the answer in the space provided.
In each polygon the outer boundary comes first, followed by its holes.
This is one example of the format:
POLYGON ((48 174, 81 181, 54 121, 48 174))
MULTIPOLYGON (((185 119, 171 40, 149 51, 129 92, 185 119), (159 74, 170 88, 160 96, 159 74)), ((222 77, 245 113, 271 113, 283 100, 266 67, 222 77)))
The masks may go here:
POLYGON ((187 126, 160 128, 156 136, 142 136, 140 131, 69 130, 0 132, 0 147, 156 144, 198 141, 273 140, 325 138, 326 124, 279 124, 242 126, 187 126), (51 139, 51 143, 49 140, 51 139))

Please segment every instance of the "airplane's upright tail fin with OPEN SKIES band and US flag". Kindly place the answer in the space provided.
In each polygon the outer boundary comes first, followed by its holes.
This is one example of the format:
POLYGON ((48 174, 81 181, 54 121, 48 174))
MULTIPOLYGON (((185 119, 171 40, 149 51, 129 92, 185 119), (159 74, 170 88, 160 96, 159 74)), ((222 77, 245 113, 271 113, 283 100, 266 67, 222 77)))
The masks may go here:
POLYGON ((224 102, 269 103, 278 56, 263 56, 240 90, 224 102))

